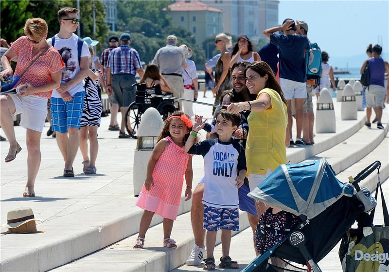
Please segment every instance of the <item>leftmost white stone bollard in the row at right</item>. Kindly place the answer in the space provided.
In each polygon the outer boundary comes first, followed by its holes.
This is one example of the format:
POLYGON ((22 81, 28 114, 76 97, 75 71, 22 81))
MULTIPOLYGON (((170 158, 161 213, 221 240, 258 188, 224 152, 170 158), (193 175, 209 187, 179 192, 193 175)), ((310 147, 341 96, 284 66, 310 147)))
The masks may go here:
POLYGON ((335 133, 336 119, 334 103, 327 88, 320 91, 316 107, 316 133, 335 133))

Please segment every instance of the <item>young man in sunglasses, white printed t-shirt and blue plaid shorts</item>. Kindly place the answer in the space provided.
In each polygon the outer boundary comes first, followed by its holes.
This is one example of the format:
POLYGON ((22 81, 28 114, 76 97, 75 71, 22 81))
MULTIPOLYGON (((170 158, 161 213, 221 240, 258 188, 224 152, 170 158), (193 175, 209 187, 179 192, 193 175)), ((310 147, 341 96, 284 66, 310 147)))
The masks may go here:
POLYGON ((62 8, 58 11, 61 25, 59 33, 48 39, 61 54, 65 67, 62 69, 62 81, 58 89, 53 90, 51 98, 52 130, 65 160, 64 177, 74 177, 73 161, 78 150, 78 130, 84 105, 83 80, 89 70, 88 44, 79 41, 73 32, 80 24, 78 10, 62 8), (82 43, 79 49, 78 43, 82 43), (81 50, 79 53, 78 51, 81 50))

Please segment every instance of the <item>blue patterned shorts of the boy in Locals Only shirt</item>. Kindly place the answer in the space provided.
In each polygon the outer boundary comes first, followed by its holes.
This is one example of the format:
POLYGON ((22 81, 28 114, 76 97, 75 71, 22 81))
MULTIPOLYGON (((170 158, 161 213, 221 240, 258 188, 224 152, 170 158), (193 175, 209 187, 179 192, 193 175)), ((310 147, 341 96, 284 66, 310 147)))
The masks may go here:
POLYGON ((239 208, 217 208, 204 205, 203 229, 239 231, 239 208))

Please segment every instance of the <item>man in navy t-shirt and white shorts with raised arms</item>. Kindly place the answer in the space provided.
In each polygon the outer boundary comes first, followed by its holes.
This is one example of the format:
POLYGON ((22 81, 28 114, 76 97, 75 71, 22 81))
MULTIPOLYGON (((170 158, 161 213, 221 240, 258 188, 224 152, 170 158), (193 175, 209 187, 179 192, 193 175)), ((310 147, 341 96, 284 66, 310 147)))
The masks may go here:
MULTIPOLYGON (((299 22, 297 27, 300 28, 299 22)), ((309 42, 305 36, 296 34, 296 25, 292 19, 285 19, 282 26, 272 27, 264 31, 264 36, 270 43, 277 45, 280 57, 280 85, 288 102, 288 130, 292 136, 292 98, 296 103, 296 142, 290 138, 290 145, 305 145, 301 138, 303 124, 303 103, 307 97, 305 56, 309 50, 309 42), (275 34, 283 31, 284 34, 275 34)))

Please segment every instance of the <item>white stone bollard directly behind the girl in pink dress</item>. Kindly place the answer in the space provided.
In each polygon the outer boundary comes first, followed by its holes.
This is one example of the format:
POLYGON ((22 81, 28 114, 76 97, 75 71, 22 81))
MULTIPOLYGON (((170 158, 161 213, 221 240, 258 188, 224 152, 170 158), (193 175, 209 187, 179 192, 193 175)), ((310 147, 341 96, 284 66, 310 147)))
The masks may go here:
POLYGON ((144 180, 146 179, 147 163, 157 144, 159 134, 163 127, 163 120, 155 108, 148 108, 142 114, 138 127, 138 142, 134 151, 134 196, 139 196, 144 180))

